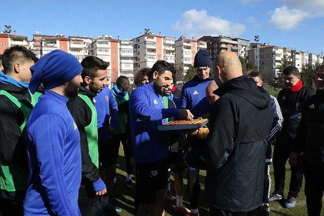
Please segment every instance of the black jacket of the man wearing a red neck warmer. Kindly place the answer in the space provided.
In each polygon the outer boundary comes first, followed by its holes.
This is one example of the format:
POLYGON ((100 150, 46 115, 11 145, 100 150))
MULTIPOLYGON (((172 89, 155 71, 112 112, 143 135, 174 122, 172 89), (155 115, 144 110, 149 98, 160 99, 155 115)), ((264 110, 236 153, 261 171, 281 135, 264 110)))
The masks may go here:
POLYGON ((292 93, 286 88, 279 92, 277 100, 284 117, 284 125, 278 136, 282 138, 296 137, 296 129, 301 118, 301 108, 307 98, 313 94, 314 92, 304 83, 302 89, 296 93, 292 93))

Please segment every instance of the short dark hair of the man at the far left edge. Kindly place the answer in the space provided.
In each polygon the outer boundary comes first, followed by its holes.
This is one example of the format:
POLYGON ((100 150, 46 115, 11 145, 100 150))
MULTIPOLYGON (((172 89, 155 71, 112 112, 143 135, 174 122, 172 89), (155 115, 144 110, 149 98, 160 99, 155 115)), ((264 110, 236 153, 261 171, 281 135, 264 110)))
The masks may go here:
POLYGON ((37 62, 38 58, 27 48, 16 45, 5 50, 4 54, 2 55, 1 62, 5 73, 11 70, 15 61, 19 61, 21 64, 24 64, 26 61, 37 62))

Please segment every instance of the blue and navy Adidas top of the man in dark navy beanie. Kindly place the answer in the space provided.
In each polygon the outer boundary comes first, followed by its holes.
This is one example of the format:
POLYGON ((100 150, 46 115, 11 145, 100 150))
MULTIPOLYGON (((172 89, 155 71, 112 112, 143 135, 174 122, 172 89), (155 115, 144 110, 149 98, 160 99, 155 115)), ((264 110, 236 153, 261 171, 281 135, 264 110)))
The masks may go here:
POLYGON ((180 96, 180 107, 189 109, 193 118, 209 113, 212 105, 209 104, 206 97, 207 85, 213 79, 199 79, 197 76, 184 83, 180 96))

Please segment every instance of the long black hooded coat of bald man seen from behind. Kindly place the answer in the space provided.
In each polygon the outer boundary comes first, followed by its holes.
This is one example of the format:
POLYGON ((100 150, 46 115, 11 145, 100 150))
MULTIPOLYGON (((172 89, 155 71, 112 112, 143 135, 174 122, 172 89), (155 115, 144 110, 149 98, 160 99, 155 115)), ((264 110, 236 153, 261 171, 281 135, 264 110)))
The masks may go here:
POLYGON ((211 111, 207 146, 194 157, 204 160, 205 166, 209 163, 206 191, 210 206, 251 211, 262 203, 264 161, 273 121, 270 96, 247 76, 225 82, 214 93, 220 99, 211 111))

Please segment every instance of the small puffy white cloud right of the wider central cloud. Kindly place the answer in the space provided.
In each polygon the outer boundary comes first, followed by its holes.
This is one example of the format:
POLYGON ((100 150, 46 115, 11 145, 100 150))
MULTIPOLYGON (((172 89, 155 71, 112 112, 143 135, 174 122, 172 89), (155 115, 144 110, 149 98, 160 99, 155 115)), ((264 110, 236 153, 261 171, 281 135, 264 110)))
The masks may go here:
POLYGON ((299 22, 308 16, 309 14, 304 11, 282 6, 274 10, 270 22, 277 28, 286 30, 297 27, 299 22))

